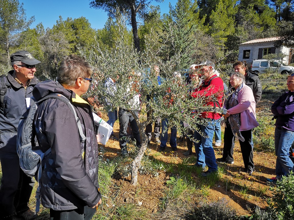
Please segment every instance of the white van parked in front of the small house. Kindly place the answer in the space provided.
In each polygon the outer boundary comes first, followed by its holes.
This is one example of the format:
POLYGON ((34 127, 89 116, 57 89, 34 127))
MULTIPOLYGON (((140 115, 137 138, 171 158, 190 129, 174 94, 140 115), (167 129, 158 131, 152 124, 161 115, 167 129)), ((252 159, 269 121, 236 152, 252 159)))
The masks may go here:
POLYGON ((276 70, 278 68, 278 72, 280 74, 288 74, 290 70, 294 70, 294 67, 287 66, 285 63, 279 60, 273 60, 271 62, 264 59, 253 60, 251 64, 251 72, 257 74, 264 73, 265 69, 267 68, 270 68, 271 70, 276 70))

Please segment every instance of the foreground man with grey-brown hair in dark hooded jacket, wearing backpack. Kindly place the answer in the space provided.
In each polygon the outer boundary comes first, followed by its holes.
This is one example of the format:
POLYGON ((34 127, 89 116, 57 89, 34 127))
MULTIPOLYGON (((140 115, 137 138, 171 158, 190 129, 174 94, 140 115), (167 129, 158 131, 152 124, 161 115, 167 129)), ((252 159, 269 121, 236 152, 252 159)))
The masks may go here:
POLYGON ((80 96, 92 81, 92 69, 82 57, 64 56, 57 81, 39 83, 33 90, 40 100, 59 93, 73 104, 86 141, 80 141, 78 125, 69 106, 59 99, 47 99, 35 114, 34 126, 40 149, 45 152, 41 202, 52 219, 91 219, 101 204, 98 185, 98 143, 89 103, 80 96))

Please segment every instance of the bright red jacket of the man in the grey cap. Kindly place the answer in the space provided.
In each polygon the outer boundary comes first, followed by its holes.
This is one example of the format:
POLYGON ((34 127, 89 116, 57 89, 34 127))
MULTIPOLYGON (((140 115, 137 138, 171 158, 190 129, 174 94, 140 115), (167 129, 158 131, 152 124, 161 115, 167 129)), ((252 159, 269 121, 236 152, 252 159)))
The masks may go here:
MULTIPOLYGON (((212 75, 209 79, 216 75, 212 75)), ((208 85, 209 79, 204 81, 204 84, 199 86, 199 88, 195 89, 194 92, 191 93, 193 98, 205 96, 211 97, 215 94, 218 95, 217 100, 220 106, 223 106, 223 80, 220 77, 215 77, 211 80, 209 86, 208 85)), ((208 101, 206 103, 207 106, 214 106, 213 101, 208 101)), ((208 119, 220 119, 220 114, 215 112, 202 112, 201 117, 208 118, 208 119)))

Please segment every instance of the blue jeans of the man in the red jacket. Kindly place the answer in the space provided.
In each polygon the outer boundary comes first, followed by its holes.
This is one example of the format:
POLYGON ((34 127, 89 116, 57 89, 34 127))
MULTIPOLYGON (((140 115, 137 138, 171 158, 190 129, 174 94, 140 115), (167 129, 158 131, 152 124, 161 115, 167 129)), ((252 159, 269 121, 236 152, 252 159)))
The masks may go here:
POLYGON ((214 150, 212 148, 213 133, 215 131, 217 121, 218 120, 211 119, 207 126, 198 125, 200 131, 207 136, 207 138, 196 132, 196 139, 199 140, 199 142, 196 143, 195 146, 197 155, 197 162, 195 165, 203 168, 207 165, 208 172, 214 172, 218 169, 218 165, 216 164, 216 155, 214 154, 214 150))

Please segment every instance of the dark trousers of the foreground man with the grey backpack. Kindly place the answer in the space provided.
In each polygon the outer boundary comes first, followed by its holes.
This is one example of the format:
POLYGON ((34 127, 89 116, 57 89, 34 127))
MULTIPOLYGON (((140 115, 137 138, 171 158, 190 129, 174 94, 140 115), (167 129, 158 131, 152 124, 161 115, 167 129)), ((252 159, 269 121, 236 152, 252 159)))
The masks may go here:
POLYGON ((96 212, 87 206, 80 209, 55 211, 50 209, 50 220, 90 220, 96 212))

